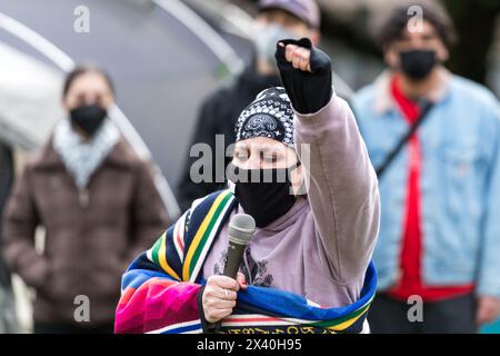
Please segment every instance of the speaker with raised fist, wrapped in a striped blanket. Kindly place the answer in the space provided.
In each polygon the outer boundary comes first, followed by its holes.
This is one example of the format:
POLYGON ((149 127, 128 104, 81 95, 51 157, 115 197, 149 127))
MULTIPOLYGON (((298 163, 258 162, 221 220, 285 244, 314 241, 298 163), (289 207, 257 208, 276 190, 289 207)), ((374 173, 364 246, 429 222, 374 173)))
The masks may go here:
MULTIPOLYGON (((276 59, 284 88, 261 91, 240 113, 229 188, 196 200, 132 263, 123 280, 142 283, 123 285, 118 333, 182 332, 186 320, 190 332, 221 322, 222 332, 262 333, 271 318, 271 329, 290 333, 292 300, 301 316, 336 325, 310 332, 368 332, 380 207, 373 167, 332 90, 329 57, 304 38, 279 41, 276 59), (257 229, 234 279, 221 274, 230 221, 242 212, 257 229), (159 313, 146 313, 151 305, 159 313)), ((292 323, 299 333, 308 324, 292 323)))

